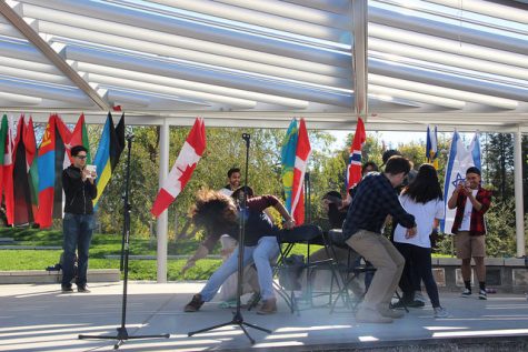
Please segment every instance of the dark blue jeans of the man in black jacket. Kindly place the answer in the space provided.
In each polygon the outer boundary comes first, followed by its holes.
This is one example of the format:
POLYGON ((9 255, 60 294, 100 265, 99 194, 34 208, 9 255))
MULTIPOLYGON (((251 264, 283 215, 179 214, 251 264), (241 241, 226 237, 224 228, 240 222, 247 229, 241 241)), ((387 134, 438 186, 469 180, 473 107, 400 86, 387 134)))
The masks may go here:
POLYGON ((76 249, 78 252, 77 285, 86 285, 88 271, 88 251, 90 250, 91 234, 93 231, 92 214, 64 213, 62 232, 64 240, 62 249, 64 258, 62 263, 62 285, 69 285, 76 273, 76 249))

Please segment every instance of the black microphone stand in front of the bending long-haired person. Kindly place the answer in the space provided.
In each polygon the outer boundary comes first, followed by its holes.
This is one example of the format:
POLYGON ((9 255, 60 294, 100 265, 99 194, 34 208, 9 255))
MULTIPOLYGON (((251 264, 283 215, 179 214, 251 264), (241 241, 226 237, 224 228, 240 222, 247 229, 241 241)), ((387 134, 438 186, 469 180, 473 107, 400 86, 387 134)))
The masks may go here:
POLYGON ((243 183, 245 183, 243 184, 243 190, 245 190, 245 192, 242 192, 243 197, 241 199, 241 207, 240 207, 241 209, 240 209, 240 217, 239 217, 239 223, 238 223, 239 237, 238 237, 237 310, 233 312, 233 316, 232 316, 231 321, 229 321, 227 323, 209 326, 209 328, 206 328, 206 329, 191 331, 191 332, 188 333, 188 335, 192 336, 197 333, 202 333, 202 332, 206 332, 206 331, 210 331, 210 330, 218 329, 218 328, 223 328, 223 326, 227 326, 227 325, 238 325, 243 331, 246 336, 249 339, 251 344, 255 344, 255 340, 249 335, 249 333, 248 333, 248 331, 246 330, 245 326, 253 328, 253 329, 267 332, 267 333, 271 333, 271 330, 260 328, 260 326, 257 326, 255 324, 250 324, 250 323, 245 322, 242 313, 240 311, 240 309, 241 309, 240 296, 242 295, 242 280, 243 280, 243 238, 246 235, 246 221, 245 221, 243 214, 247 212, 248 194, 247 194, 246 190, 247 190, 247 187, 248 187, 249 141, 251 139, 251 135, 249 133, 242 133, 242 139, 246 141, 246 174, 245 174, 245 180, 243 180, 243 183))

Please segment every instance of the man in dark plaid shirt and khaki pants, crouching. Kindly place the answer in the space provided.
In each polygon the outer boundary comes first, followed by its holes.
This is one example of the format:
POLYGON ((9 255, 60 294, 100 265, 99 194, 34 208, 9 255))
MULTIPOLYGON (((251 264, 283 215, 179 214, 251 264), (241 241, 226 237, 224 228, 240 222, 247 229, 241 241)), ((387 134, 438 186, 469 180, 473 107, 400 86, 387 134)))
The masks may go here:
POLYGON ((383 173, 371 172, 359 183, 342 234, 347 244, 377 269, 370 288, 360 304, 356 321, 363 323, 391 323, 404 312, 390 309, 390 300, 398 285, 405 260, 392 243, 381 234, 387 215, 407 228, 407 235, 416 235, 415 217, 401 207, 395 188, 400 185, 412 168, 404 157, 387 161, 383 173))

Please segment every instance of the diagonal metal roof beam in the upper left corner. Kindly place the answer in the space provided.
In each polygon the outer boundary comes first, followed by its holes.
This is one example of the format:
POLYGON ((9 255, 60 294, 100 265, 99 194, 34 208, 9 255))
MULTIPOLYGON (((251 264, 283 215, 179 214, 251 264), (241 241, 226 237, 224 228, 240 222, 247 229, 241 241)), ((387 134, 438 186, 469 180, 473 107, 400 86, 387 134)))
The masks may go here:
POLYGON ((0 1, 0 13, 17 28, 33 46, 36 46, 62 73, 102 110, 109 104, 88 84, 6 1, 0 1))

